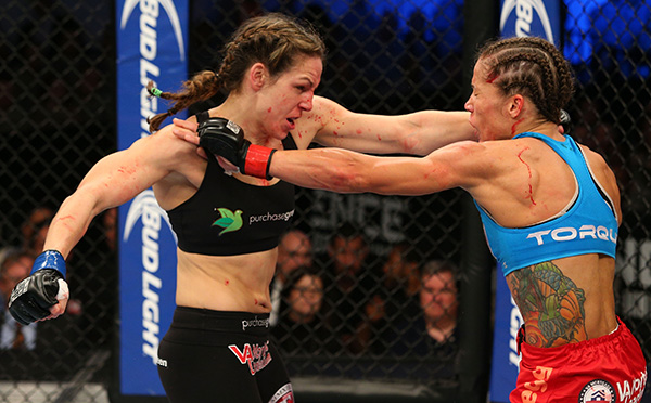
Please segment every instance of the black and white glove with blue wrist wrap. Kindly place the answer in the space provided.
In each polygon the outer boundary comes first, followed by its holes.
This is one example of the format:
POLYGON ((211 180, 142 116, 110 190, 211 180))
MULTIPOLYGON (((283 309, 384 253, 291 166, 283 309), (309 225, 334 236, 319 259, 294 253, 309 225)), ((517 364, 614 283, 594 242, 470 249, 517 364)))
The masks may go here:
POLYGON ((65 260, 59 251, 46 250, 34 261, 29 277, 11 291, 9 312, 20 324, 29 325, 50 316, 50 307, 67 296, 65 260))

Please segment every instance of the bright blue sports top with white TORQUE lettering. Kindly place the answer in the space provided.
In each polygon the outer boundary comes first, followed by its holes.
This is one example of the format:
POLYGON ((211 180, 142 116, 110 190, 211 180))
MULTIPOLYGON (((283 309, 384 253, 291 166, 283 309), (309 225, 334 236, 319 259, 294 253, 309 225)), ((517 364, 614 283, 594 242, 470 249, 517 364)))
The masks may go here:
POLYGON ((539 139, 557 152, 574 172, 577 187, 574 198, 561 212, 519 229, 497 224, 475 202, 488 247, 505 276, 518 269, 570 256, 603 253, 614 258, 617 245, 614 205, 592 177, 579 146, 569 135, 564 142, 534 132, 513 139, 525 136, 539 139))

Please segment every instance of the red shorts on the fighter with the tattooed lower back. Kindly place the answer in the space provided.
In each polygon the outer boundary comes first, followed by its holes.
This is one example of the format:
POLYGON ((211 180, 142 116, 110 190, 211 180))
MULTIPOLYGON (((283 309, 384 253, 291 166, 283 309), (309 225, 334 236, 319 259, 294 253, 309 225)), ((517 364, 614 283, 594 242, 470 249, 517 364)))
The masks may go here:
MULTIPOLYGON (((630 330, 554 348, 522 342, 512 403, 638 403, 647 385, 647 363, 630 330)), ((521 339, 522 340, 522 339, 521 339)))

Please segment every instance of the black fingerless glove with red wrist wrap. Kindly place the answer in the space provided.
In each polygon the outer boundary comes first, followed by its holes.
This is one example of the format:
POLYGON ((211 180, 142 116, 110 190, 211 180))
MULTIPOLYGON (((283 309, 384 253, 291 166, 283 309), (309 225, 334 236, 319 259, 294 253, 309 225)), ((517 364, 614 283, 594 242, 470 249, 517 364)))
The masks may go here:
POLYGON ((209 118, 196 129, 199 145, 215 155, 226 158, 237 166, 240 172, 264 179, 269 177, 273 148, 251 144, 244 139, 244 131, 234 122, 224 118, 209 118))

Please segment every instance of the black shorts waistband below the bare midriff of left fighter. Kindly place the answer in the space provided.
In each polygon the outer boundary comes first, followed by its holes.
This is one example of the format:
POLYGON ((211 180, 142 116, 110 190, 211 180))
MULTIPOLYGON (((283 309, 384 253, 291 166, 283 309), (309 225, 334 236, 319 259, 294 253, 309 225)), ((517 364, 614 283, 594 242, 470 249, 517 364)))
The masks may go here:
POLYGON ((266 336, 269 334, 269 314, 177 307, 171 327, 266 336))

